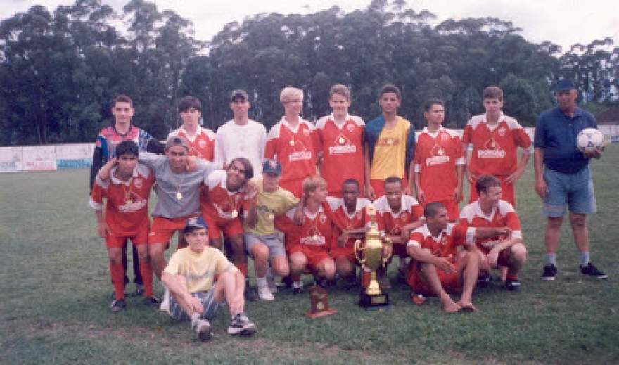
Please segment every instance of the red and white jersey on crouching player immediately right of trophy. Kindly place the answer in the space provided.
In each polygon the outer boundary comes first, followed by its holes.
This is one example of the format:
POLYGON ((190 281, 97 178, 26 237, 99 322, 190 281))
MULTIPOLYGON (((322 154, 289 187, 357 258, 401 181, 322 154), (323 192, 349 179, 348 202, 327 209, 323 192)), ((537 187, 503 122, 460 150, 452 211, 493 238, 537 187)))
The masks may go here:
POLYGON ((378 229, 390 236, 400 236, 406 224, 416 222, 423 216, 423 208, 412 196, 402 196, 400 212, 397 213, 391 210, 386 196, 376 199, 374 206, 378 213, 378 229))

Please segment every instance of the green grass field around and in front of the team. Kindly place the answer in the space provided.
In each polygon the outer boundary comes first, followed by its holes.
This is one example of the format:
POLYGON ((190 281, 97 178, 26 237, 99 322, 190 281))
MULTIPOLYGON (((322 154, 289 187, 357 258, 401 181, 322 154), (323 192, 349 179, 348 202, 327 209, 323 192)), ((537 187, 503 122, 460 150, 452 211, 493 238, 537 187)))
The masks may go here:
POLYGON ((205 343, 137 297, 128 297, 125 312, 109 311, 107 254, 87 204, 86 170, 0 174, 0 363, 617 364, 618 166, 617 145, 592 163, 599 209, 588 221, 592 262, 607 281, 580 274, 567 225, 559 276, 540 280, 545 220, 530 163, 518 183, 529 250, 520 293, 493 283, 476 290, 479 312, 445 314, 435 298, 416 306, 396 285, 393 310, 366 312, 355 304, 357 290, 338 286, 328 290, 338 314, 307 319, 309 295, 284 290, 275 302, 246 305, 259 327, 253 338, 226 335, 224 309, 205 343))

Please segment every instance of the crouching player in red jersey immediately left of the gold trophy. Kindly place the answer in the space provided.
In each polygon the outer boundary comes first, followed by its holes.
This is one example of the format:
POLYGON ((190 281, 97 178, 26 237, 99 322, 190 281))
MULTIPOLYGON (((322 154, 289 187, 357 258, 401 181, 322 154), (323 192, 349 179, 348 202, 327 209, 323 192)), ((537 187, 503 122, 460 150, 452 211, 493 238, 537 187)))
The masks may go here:
POLYGON ((336 262, 338 274, 348 283, 354 283, 355 277, 355 252, 353 245, 355 240, 363 240, 370 222, 366 207, 370 201, 359 198, 361 189, 355 179, 347 179, 342 184, 342 198, 328 196, 328 213, 336 225, 338 238, 333 240, 331 257, 336 262))

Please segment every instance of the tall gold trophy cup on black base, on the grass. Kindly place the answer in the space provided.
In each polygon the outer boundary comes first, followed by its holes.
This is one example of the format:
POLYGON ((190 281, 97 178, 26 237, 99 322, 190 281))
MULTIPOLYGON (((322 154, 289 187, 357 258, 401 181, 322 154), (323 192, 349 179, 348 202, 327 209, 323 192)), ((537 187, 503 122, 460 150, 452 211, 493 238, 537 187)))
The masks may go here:
POLYGON ((370 283, 365 290, 361 290, 359 305, 366 309, 379 309, 389 305, 389 295, 381 293, 381 287, 376 281, 376 270, 379 267, 385 267, 387 259, 383 257, 384 245, 390 245, 391 241, 385 239, 385 243, 381 239, 381 233, 378 232, 378 224, 376 224, 376 208, 374 205, 368 205, 368 215, 371 219, 369 231, 365 233, 365 244, 361 246, 361 241, 355 241, 355 257, 362 264, 362 269, 368 269, 371 274, 370 283))

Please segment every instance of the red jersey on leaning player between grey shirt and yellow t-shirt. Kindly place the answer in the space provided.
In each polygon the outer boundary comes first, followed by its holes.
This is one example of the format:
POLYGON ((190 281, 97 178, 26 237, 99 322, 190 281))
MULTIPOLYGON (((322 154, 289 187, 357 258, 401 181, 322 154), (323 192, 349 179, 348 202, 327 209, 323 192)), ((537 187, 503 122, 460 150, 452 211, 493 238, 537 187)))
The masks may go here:
POLYGON ((204 181, 200 193, 200 210, 216 222, 226 222, 241 217, 245 204, 245 189, 234 193, 226 188, 226 172, 222 169, 211 172, 204 181))

